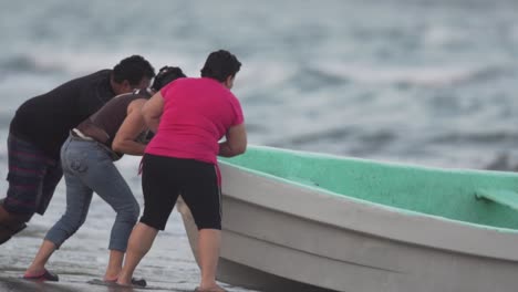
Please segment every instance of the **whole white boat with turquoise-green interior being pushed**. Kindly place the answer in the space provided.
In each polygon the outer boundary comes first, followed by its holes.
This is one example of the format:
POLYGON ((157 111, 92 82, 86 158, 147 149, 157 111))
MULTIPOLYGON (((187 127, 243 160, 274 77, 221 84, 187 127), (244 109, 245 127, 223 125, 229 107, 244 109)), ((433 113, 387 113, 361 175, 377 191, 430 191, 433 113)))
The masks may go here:
MULTIPOLYGON (((260 291, 518 291, 518 174, 250 146, 220 159, 218 279, 260 291)), ((196 254, 196 227, 182 202, 196 254)))

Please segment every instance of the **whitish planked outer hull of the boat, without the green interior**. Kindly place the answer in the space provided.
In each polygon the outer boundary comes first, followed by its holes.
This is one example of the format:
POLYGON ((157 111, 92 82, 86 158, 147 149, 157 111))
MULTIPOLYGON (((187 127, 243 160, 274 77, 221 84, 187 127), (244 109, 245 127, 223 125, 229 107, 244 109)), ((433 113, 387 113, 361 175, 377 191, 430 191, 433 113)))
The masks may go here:
MULTIPOLYGON (((273 292, 518 289, 514 230, 402 212, 225 164, 220 168, 218 279, 224 282, 273 292), (299 289, 287 290, 290 283, 299 289)), ((195 251, 196 227, 185 205, 178 209, 195 251)))

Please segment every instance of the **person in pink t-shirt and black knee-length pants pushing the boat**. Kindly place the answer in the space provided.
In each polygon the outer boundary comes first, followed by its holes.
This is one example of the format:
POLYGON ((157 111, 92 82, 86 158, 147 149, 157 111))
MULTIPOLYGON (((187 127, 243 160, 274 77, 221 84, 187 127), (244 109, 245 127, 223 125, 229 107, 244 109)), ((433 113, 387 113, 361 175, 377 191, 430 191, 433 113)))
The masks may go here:
POLYGON ((130 237, 118 284, 131 285, 182 194, 198 227, 201 279, 195 291, 225 291, 216 283, 221 238, 217 156, 236 156, 247 148, 241 105, 230 92, 240 66, 228 51, 211 52, 201 77, 178 79, 144 105, 144 118, 156 134, 143 157, 144 213, 130 237))

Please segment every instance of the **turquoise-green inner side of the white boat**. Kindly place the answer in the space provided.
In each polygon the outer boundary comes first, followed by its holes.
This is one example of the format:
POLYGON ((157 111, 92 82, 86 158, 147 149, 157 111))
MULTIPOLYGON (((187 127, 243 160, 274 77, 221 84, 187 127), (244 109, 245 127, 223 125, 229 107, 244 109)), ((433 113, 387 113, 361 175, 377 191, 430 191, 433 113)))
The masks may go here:
POLYGON ((500 198, 498 204, 476 199, 477 191, 484 189, 507 191, 507 195, 518 190, 515 173, 431 168, 259 146, 250 146, 246 154, 221 160, 322 188, 335 196, 469 223, 518 229, 518 211, 509 208, 512 196, 507 200, 500 198))

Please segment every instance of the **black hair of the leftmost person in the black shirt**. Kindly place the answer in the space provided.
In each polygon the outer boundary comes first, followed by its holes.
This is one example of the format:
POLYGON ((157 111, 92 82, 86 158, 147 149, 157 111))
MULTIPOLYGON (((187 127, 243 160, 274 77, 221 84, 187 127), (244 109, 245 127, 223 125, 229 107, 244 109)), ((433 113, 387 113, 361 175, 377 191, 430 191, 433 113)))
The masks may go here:
POLYGON ((141 55, 132 55, 122 60, 113 67, 113 80, 122 83, 127 80, 130 85, 137 86, 142 79, 153 79, 155 69, 141 55))

